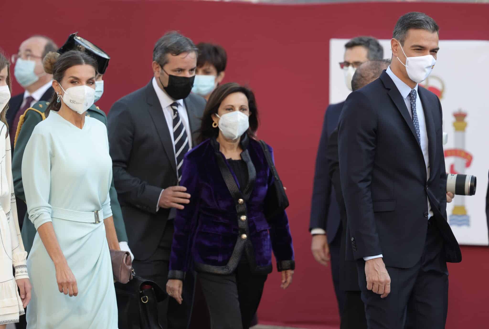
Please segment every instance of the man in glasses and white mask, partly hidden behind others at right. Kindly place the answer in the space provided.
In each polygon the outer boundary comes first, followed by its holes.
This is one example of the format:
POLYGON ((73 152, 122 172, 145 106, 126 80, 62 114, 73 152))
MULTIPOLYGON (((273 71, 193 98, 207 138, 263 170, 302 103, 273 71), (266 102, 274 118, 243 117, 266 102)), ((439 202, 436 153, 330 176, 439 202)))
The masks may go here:
MULTIPOLYGON (((345 72, 346 87, 352 90, 352 77, 362 63, 381 60, 384 50, 377 39, 372 37, 356 37, 345 44, 344 62, 340 68, 345 72)), ((331 261, 334 292, 338 302, 339 314, 345 305, 345 293, 339 285, 339 257, 341 235, 344 227, 341 225, 340 214, 331 179, 328 175, 328 138, 338 125, 338 118, 345 102, 331 104, 324 115, 323 130, 319 140, 312 191, 311 221, 311 251, 314 259, 327 266, 331 261)))

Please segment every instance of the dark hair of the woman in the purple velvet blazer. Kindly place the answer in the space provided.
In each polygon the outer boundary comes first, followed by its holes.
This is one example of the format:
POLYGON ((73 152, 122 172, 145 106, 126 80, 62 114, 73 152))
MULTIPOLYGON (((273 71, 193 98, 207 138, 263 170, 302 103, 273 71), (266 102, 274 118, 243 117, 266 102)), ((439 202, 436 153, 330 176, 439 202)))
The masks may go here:
POLYGON ((204 114, 202 115, 202 125, 199 130, 199 137, 197 138, 198 143, 209 138, 216 138, 219 135, 219 128, 212 127, 212 114, 217 114, 222 101, 235 92, 244 93, 248 99, 248 109, 250 111, 249 115, 249 128, 246 134, 250 138, 255 138, 255 133, 258 130, 258 108, 256 106, 255 94, 251 89, 241 86, 237 83, 230 82, 221 86, 218 86, 209 97, 209 101, 205 106, 204 114))

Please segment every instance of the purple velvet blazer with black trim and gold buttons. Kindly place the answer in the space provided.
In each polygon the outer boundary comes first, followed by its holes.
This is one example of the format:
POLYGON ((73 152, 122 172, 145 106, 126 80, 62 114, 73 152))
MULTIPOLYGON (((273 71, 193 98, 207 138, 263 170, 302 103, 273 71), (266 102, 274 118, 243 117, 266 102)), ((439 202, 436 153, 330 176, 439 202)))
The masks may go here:
POLYGON ((185 155, 180 185, 191 197, 185 209, 177 211, 169 279, 182 280, 192 265, 198 272, 231 274, 243 253, 253 272, 270 273, 272 250, 279 271, 294 269, 287 214, 267 219, 263 212, 274 179, 265 154, 246 135, 241 146, 249 177, 243 192, 216 139, 185 155))

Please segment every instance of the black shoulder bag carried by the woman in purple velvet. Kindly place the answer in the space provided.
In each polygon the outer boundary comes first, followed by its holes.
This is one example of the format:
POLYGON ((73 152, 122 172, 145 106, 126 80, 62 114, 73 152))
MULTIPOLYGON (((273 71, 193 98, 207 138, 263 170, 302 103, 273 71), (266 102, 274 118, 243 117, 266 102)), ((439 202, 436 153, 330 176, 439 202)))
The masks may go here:
POLYGON ((261 140, 260 145, 262 146, 268 166, 270 167, 273 177, 275 178, 273 185, 268 188, 264 204, 265 217, 270 220, 289 207, 289 198, 285 194, 284 185, 282 184, 282 181, 277 173, 277 169, 275 168, 275 164, 273 163, 273 159, 270 151, 268 150, 267 144, 261 140))

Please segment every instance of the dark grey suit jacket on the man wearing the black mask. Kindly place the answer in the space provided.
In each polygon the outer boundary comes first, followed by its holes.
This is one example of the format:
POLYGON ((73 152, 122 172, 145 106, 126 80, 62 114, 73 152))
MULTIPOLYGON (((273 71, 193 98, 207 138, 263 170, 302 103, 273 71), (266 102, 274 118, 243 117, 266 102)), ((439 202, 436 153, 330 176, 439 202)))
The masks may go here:
MULTIPOLYGON (((192 144, 197 146, 205 100, 190 94, 183 101, 192 144)), ((175 217, 175 209, 156 211, 161 190, 178 183, 171 132, 151 81, 112 105, 108 130, 114 184, 129 245, 137 260, 146 260, 160 243, 167 220, 175 217)))

